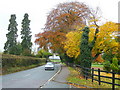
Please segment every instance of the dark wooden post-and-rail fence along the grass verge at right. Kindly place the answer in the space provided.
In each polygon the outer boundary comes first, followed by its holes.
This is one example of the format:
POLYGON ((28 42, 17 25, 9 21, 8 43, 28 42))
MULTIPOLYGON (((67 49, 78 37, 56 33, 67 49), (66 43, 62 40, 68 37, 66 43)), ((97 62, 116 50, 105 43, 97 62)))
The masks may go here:
POLYGON ((77 68, 84 69, 84 72, 86 73, 86 75, 84 75, 85 78, 86 78, 86 80, 88 78, 90 78, 90 79, 92 79, 92 82, 97 81, 99 83, 99 85, 101 85, 101 82, 102 83, 111 84, 112 85, 112 90, 115 90, 115 86, 120 86, 120 83, 119 84, 115 83, 115 80, 120 80, 120 78, 116 78, 115 75, 116 74, 120 74, 120 73, 115 73, 113 71, 112 72, 108 72, 108 71, 104 71, 104 70, 100 70, 100 69, 94 69, 94 68, 89 69, 89 68, 81 67, 80 65, 71 65, 71 64, 68 64, 68 65, 69 66, 73 66, 75 68, 77 67, 77 68), (91 72, 88 72, 88 70, 90 70, 91 72), (98 74, 95 74, 94 71, 96 71, 98 74), (111 73, 112 76, 111 77, 109 77, 109 76, 103 76, 103 75, 101 75, 101 72, 111 73), (98 79, 94 78, 94 76, 97 76, 98 79), (102 81, 101 77, 103 77, 103 78, 109 78, 109 79, 112 80, 112 82, 102 81))

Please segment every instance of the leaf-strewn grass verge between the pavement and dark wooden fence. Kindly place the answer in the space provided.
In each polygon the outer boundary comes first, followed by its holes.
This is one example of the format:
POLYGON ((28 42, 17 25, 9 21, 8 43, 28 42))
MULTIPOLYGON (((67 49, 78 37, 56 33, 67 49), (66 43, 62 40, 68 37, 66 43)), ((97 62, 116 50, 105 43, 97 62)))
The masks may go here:
MULTIPOLYGON (((69 70, 70 70, 70 75, 67 78, 68 82, 77 83, 79 85, 84 85, 84 86, 88 86, 88 87, 92 87, 92 88, 112 88, 112 85, 110 85, 110 84, 101 83, 101 85, 99 85, 97 81, 94 81, 92 83, 91 79, 86 80, 86 79, 82 78, 80 76, 79 72, 74 70, 72 67, 69 67, 69 70)), ((95 77, 95 78, 97 78, 97 77, 95 77)), ((105 81, 110 82, 109 79, 106 79, 105 81)), ((116 88, 118 88, 118 87, 116 87, 116 88)))

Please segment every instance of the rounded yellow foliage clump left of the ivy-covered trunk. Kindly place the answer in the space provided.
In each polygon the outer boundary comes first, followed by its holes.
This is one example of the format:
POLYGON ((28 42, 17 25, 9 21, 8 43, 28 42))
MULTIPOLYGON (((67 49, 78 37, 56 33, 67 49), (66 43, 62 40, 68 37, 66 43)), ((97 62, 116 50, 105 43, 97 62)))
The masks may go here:
POLYGON ((69 57, 77 58, 77 56, 80 54, 79 50, 80 36, 81 33, 76 31, 69 32, 66 35, 67 40, 66 42, 64 42, 64 49, 69 57))

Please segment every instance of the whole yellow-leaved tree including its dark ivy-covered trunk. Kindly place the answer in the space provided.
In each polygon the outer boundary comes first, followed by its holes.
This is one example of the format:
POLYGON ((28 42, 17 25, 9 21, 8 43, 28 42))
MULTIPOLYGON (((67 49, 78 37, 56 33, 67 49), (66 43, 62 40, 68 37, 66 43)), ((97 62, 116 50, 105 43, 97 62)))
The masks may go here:
POLYGON ((101 53, 108 53, 110 50, 112 53, 118 51, 118 42, 114 35, 117 30, 118 26, 115 23, 106 22, 98 28, 91 27, 69 32, 66 35, 64 49, 67 55, 76 58, 81 66, 91 68, 92 61, 101 53))

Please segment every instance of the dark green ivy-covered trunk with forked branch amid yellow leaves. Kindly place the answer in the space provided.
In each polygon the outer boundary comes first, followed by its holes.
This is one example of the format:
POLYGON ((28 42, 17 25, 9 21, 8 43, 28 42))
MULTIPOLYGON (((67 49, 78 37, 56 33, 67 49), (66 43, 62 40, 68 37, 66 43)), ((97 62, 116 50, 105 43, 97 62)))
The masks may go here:
POLYGON ((97 53, 94 57, 92 57, 92 49, 95 45, 96 39, 97 39, 97 33, 99 32, 99 27, 96 28, 95 36, 92 42, 89 42, 89 28, 85 27, 82 31, 81 36, 81 43, 80 43, 80 55, 78 56, 77 60, 80 62, 81 67, 85 67, 88 69, 81 69, 83 76, 90 75, 86 72, 90 73, 92 61, 95 60, 100 53, 97 53))

